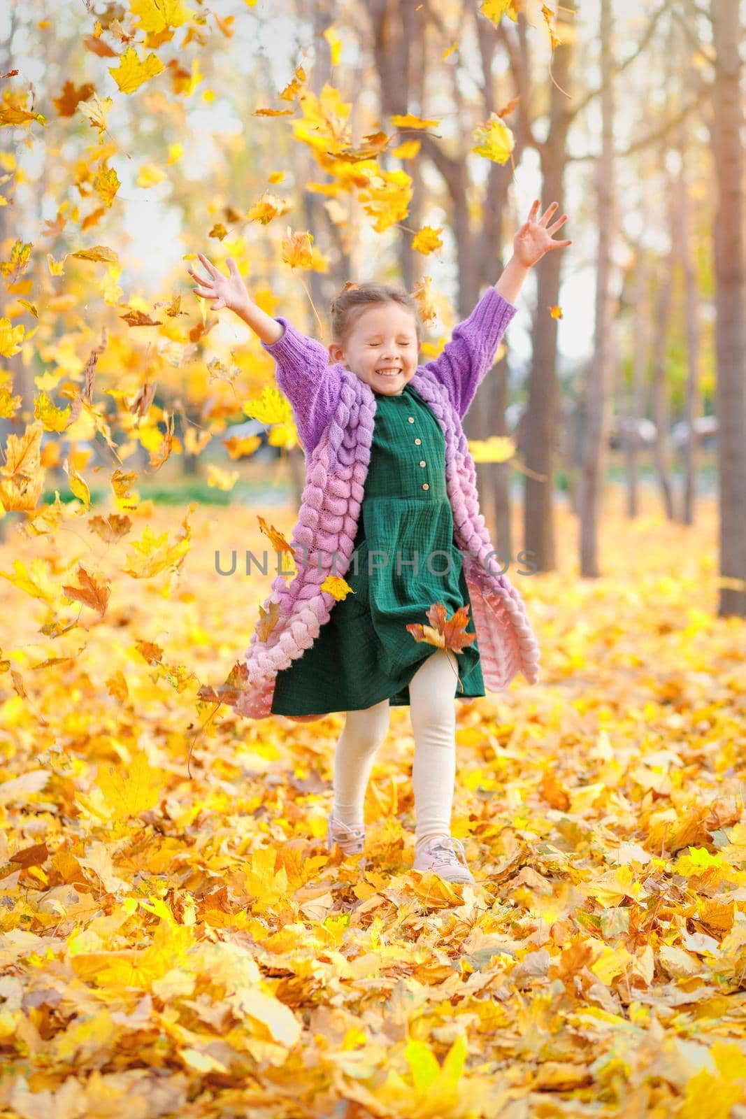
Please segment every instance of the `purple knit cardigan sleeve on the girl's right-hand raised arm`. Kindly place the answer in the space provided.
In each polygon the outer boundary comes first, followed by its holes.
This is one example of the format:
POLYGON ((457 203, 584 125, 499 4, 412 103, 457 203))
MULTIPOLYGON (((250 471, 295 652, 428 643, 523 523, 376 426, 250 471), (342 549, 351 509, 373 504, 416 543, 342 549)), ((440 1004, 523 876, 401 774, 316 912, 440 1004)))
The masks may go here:
POLYGON ((469 318, 454 327, 443 352, 425 366, 445 385, 460 419, 469 412, 476 389, 492 368, 500 339, 517 311, 491 285, 469 318))

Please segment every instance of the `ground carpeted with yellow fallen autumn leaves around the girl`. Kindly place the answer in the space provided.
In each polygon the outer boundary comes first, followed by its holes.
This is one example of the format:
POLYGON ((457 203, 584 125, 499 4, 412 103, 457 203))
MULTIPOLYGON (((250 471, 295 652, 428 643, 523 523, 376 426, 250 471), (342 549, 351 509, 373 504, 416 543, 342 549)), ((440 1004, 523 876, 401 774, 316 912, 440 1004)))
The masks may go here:
POLYGON ((111 543, 77 514, 11 528, 2 1115, 746 1116, 746 623, 715 617, 714 507, 686 528, 611 506, 604 577, 577 579, 564 510, 560 570, 510 572, 541 681, 456 705, 474 886, 410 869, 407 708, 344 859, 342 716, 198 702, 267 594, 242 570, 255 510, 193 509, 185 535, 143 502, 111 543))

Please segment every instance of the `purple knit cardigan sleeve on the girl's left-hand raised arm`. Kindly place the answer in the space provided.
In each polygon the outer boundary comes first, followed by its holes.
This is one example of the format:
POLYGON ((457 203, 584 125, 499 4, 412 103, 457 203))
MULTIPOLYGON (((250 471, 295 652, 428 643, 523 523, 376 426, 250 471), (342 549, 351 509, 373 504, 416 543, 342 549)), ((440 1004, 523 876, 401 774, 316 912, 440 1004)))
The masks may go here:
POLYGON ((342 391, 340 367, 329 365, 329 351, 278 316, 285 328, 276 342, 262 342, 275 359, 275 379, 293 410, 298 436, 310 454, 337 411, 342 391))

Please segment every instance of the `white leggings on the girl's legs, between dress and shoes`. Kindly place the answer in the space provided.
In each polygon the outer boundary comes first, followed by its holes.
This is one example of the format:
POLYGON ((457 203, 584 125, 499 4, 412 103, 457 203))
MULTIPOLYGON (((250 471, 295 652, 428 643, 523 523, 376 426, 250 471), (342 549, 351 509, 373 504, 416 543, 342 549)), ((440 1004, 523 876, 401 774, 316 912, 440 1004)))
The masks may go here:
MULTIPOLYGON (((437 649, 409 683, 417 845, 434 836, 451 835, 456 775, 456 669, 455 653, 437 649)), ((388 699, 346 713, 334 753, 334 817, 344 824, 362 822, 366 789, 376 752, 388 733, 389 718, 388 699)))

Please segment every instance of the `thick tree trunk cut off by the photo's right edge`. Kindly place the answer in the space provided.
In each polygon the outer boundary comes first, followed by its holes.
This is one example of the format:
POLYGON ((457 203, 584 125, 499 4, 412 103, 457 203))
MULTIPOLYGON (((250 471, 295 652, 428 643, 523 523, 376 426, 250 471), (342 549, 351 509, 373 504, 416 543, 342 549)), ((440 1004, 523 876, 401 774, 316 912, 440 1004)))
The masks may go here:
POLYGON ((710 0, 715 45, 710 132, 717 179, 715 341, 720 489, 719 614, 746 617, 746 288, 738 0, 710 0))

